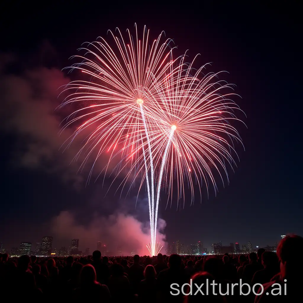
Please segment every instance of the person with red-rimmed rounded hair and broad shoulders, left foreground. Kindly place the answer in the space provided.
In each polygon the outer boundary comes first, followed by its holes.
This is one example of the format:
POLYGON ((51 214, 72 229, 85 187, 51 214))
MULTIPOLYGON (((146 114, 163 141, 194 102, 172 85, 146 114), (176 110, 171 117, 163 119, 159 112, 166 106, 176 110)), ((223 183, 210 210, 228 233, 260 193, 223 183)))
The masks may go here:
POLYGON ((108 287, 98 283, 96 280, 95 268, 85 265, 80 273, 80 287, 76 288, 73 294, 73 302, 110 302, 111 295, 108 287))

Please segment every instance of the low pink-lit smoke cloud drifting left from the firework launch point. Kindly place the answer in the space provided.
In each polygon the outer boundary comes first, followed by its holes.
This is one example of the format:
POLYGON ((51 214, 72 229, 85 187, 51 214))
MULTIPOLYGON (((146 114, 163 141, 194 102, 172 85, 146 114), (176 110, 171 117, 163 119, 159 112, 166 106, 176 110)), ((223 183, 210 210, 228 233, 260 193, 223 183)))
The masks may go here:
MULTIPOLYGON (((158 220, 157 241, 165 246, 165 221, 158 220)), ((115 213, 109 217, 92 218, 88 225, 77 223, 75 214, 70 211, 62 211, 52 220, 52 233, 58 239, 58 243, 71 243, 72 238, 79 239, 79 250, 90 252, 96 250, 97 242, 102 241, 106 249, 113 255, 117 249, 122 249, 123 255, 135 252, 138 255, 149 255, 146 244, 150 242, 149 222, 143 224, 132 215, 115 213)), ((57 241, 57 240, 56 240, 57 241)), ((66 244, 65 244, 66 245, 66 244)), ((162 253, 165 247, 162 248, 162 253)))

